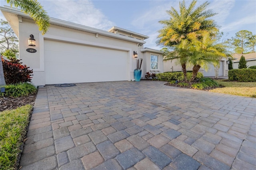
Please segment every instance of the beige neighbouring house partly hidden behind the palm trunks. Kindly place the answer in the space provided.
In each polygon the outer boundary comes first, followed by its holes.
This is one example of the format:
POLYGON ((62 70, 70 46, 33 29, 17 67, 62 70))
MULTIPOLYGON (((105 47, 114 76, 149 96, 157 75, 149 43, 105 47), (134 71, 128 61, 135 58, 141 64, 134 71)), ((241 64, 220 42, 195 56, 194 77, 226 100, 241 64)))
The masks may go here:
MULTIPOLYGON (((223 58, 220 61, 220 68, 219 68, 219 76, 228 76, 228 64, 227 64, 228 59, 223 58)), ((187 71, 192 70, 192 66, 187 68, 187 71)), ((181 66, 177 63, 177 60, 167 60, 164 61, 164 72, 173 72, 173 71, 182 71, 181 66)), ((214 66, 212 64, 210 64, 208 66, 208 70, 204 70, 202 68, 200 68, 199 72, 204 74, 204 77, 212 77, 215 76, 215 71, 214 71, 214 66)))

